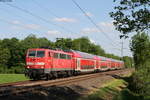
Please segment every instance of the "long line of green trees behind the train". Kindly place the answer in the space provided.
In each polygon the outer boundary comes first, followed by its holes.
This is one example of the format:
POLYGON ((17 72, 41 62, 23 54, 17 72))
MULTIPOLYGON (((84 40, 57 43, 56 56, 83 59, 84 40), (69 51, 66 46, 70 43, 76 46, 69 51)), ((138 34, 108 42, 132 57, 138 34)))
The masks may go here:
MULTIPOLYGON (((94 55, 105 56, 120 60, 121 57, 108 54, 100 45, 92 43, 89 38, 77 39, 57 38, 52 42, 47 38, 37 38, 31 34, 23 40, 17 38, 0 40, 0 73, 23 73, 26 51, 29 48, 51 47, 73 49, 94 55)), ((124 57, 126 66, 131 67, 131 57, 124 57)))

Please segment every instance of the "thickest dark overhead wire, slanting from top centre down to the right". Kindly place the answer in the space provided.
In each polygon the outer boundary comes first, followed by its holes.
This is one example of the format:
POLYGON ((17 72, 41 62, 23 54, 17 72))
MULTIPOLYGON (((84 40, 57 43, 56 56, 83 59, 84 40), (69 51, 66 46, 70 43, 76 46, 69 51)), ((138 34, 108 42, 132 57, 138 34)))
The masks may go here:
MULTIPOLYGON (((103 35, 108 39, 108 40, 110 40, 111 42, 111 45, 114 45, 113 43, 115 43, 108 35, 107 35, 107 33, 105 33, 95 22, 94 22, 94 20, 90 17, 90 16, 88 16, 87 15, 87 13, 86 13, 86 11, 83 9, 83 8, 81 8, 81 6, 75 1, 75 0, 72 0, 72 2, 81 10, 81 12, 86 16, 86 18, 101 32, 101 33, 103 33, 103 35)), ((116 43, 115 43, 116 44, 116 43)), ((118 45, 118 44, 117 44, 118 45)), ((116 46, 116 45, 114 45, 114 46, 116 46)))

